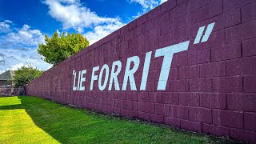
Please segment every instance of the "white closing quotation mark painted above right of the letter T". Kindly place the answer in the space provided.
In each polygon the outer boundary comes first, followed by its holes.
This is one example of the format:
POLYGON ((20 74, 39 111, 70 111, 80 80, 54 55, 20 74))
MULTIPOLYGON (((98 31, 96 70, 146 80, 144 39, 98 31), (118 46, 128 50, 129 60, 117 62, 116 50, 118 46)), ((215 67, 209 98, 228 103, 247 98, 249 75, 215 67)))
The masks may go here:
POLYGON ((214 25, 215 25, 215 22, 210 23, 207 26, 207 28, 206 28, 206 26, 199 27, 198 34, 197 34, 196 38, 194 39, 194 44, 198 44, 200 42, 201 38, 202 38, 201 42, 207 42, 208 38, 210 37, 211 32, 214 29, 214 25), (205 28, 206 28, 206 32, 203 35, 203 32, 204 32, 205 28), (202 37, 202 35, 203 35, 203 37, 202 37))

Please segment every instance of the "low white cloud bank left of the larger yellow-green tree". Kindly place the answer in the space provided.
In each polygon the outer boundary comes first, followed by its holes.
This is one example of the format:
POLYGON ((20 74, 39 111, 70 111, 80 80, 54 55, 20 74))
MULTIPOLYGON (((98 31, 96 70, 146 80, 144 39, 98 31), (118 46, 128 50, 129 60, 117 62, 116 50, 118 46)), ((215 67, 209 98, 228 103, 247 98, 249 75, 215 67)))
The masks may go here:
MULTIPOLYGON (((0 23, 12 23, 4 21, 0 23)), ((28 25, 22 28, 8 27, 9 32, 0 35, 0 72, 17 70, 30 62, 41 70, 47 70, 50 64, 42 61, 38 54, 38 43, 44 42, 44 36, 40 30, 31 29, 28 25)))

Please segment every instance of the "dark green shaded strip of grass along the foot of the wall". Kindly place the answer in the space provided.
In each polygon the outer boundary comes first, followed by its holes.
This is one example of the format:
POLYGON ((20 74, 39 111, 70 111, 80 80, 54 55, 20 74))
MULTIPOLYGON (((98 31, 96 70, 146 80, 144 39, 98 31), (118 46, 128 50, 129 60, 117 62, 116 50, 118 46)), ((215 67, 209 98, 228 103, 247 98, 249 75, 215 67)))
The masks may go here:
POLYGON ((42 98, 20 96, 21 104, 0 110, 25 109, 34 123, 62 143, 234 143, 166 126, 130 121, 62 106, 42 98))

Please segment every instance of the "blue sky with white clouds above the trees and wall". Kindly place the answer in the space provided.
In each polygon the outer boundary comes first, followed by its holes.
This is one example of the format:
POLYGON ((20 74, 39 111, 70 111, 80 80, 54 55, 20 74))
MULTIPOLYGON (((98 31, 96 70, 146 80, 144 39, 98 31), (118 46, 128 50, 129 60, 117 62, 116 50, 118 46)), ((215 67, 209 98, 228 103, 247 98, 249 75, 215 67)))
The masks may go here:
POLYGON ((44 34, 80 33, 90 44, 166 0, 1 0, 0 74, 32 63, 51 66, 37 53, 44 34))

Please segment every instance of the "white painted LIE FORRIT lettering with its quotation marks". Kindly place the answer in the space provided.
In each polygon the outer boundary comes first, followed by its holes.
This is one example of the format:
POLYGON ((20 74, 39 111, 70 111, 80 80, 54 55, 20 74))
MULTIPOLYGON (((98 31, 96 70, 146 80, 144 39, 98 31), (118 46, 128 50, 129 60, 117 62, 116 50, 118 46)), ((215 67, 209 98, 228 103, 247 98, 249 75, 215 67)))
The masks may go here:
MULTIPOLYGON (((210 38, 210 34, 214 29, 214 25, 215 25, 215 22, 210 23, 207 27, 206 26, 199 27, 198 33, 194 38, 194 45, 200 42, 207 42, 208 39, 210 38), (205 31, 205 34, 204 34, 204 31, 205 31)), ((171 62, 174 57, 174 54, 182 52, 184 50, 188 50, 189 45, 190 45, 190 41, 186 41, 186 42, 180 42, 172 46, 166 46, 164 48, 155 50, 154 58, 163 57, 162 67, 161 67, 159 79, 158 79, 157 90, 166 90, 166 84, 169 79, 170 66, 171 66, 171 62)), ((150 71, 151 57, 152 57, 152 51, 147 52, 145 56, 143 70, 142 70, 142 78, 141 78, 139 90, 146 90, 146 84, 148 81, 148 75, 150 71)), ((114 85, 114 90, 120 90, 118 75, 119 77, 123 77, 122 90, 127 90, 128 84, 130 84, 130 90, 137 90, 134 74, 137 72, 139 66, 140 66, 140 58, 138 56, 127 58, 124 75, 120 74, 122 70, 122 62, 119 60, 112 63, 111 71, 110 71, 110 66, 108 66, 107 64, 103 65, 102 69, 100 70, 99 76, 95 74, 95 72, 99 70, 99 66, 95 66, 93 67, 92 74, 91 74, 90 90, 94 89, 94 81, 97 81, 97 80, 98 80, 99 90, 105 90, 108 82, 109 82, 108 90, 112 90, 113 85, 114 85), (104 71, 106 71, 106 74, 105 74, 104 80, 102 80, 104 71), (110 81, 109 81, 109 76, 110 76, 110 81)), ((77 72, 73 70, 73 76, 74 76, 73 90, 85 90, 85 86, 82 86, 83 82, 86 82, 86 77, 84 77, 84 74, 86 74, 86 70, 78 71, 78 78, 77 78, 77 72), (76 80, 78 80, 78 82, 76 82, 76 80)), ((138 74, 141 74, 141 73, 138 73, 138 74)))

